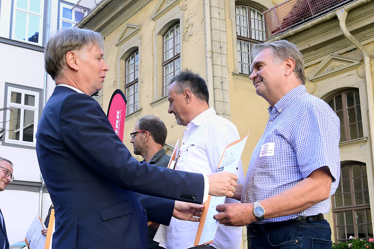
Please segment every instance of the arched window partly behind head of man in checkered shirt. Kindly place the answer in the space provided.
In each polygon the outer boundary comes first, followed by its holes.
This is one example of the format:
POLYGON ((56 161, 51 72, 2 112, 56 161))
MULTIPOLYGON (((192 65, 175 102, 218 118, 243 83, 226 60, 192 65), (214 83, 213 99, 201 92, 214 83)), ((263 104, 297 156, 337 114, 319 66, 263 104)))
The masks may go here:
POLYGON ((235 16, 239 72, 249 74, 252 44, 266 39, 265 21, 261 11, 244 4, 235 6, 235 16))

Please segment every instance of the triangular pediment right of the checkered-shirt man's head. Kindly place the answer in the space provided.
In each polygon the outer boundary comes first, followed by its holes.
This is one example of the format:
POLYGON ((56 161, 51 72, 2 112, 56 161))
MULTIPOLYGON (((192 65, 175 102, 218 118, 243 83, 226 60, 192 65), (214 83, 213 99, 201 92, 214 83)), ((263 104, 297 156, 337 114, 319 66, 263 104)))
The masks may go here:
POLYGON ((318 67, 309 75, 309 80, 319 81, 326 77, 342 73, 361 64, 360 59, 344 55, 329 54, 318 65, 318 67))

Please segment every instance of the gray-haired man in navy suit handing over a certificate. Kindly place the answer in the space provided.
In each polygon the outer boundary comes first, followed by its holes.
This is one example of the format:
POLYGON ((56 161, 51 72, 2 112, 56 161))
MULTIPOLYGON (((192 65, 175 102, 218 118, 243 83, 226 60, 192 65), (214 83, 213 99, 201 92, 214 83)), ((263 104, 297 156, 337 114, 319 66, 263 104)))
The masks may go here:
POLYGON ((197 220, 192 215, 201 205, 163 198, 201 203, 207 193, 235 192, 234 174, 173 171, 131 157, 90 97, 109 70, 103 43, 99 33, 70 28, 45 48, 45 69, 56 89, 38 124, 37 158, 55 207, 54 249, 145 249, 147 220, 197 220), (148 196, 140 204, 134 192, 148 196))

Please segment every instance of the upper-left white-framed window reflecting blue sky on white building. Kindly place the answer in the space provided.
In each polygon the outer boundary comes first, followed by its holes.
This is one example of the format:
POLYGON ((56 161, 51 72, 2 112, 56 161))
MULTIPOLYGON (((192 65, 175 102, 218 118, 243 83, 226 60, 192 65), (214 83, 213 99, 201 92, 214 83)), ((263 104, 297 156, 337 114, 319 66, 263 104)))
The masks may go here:
POLYGON ((42 45, 44 0, 14 0, 12 39, 42 45))

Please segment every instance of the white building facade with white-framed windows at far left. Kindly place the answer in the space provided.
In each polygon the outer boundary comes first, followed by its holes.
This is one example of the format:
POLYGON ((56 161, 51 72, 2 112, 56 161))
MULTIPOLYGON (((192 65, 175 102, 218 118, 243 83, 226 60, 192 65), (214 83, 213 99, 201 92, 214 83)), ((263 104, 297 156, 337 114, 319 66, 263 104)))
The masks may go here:
MULTIPOLYGON (((76 0, 0 0, 0 156, 14 163, 15 180, 0 193, 9 242, 24 240, 51 199, 40 176, 35 150, 37 122, 55 84, 44 71, 44 45, 50 33, 83 18, 76 0)), ((51 162, 53 163, 53 162, 51 162)))

